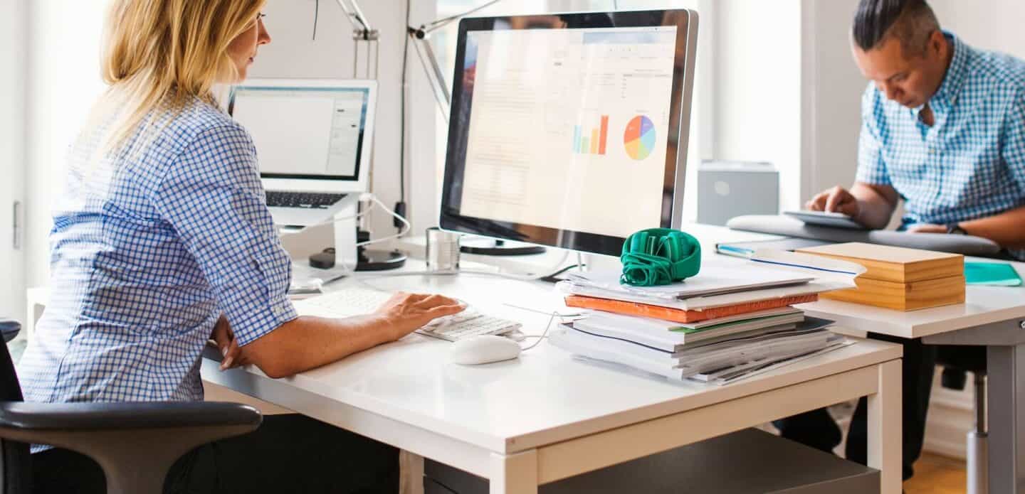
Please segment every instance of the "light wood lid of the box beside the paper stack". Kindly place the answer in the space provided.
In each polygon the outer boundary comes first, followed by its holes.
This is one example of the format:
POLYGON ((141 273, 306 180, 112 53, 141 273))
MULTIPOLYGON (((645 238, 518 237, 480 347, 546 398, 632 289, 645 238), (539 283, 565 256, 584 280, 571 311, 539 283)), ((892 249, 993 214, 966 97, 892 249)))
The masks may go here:
POLYGON ((862 242, 820 245, 796 252, 857 263, 867 269, 861 277, 898 283, 965 274, 965 256, 960 254, 862 242))

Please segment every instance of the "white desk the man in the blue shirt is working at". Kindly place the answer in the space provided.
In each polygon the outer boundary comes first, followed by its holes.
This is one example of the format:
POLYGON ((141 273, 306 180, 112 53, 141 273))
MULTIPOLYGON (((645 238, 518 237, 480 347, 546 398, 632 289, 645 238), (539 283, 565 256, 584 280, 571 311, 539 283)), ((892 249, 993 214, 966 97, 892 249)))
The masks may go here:
MULTIPOLYGON (((706 225, 687 230, 707 253, 714 252, 715 241, 780 238, 706 225)), ((1025 263, 1012 264, 1025 275, 1025 263)), ((912 312, 827 300, 798 307, 836 321, 845 331, 921 338, 931 345, 986 346, 989 490, 1025 492, 1025 287, 970 285, 965 304, 912 312)))

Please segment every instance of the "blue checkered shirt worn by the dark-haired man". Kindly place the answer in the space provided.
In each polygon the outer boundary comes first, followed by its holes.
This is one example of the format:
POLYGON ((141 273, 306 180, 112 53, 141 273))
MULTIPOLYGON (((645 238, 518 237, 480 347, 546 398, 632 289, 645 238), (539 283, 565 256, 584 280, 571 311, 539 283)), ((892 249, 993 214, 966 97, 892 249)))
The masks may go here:
MULTIPOLYGON (((954 54, 922 108, 889 101, 873 84, 862 98, 859 182, 891 185, 905 226, 947 225, 1025 206, 1025 61, 977 50, 946 33, 954 54)), ((1011 251, 1025 260, 1025 250, 1011 251)))

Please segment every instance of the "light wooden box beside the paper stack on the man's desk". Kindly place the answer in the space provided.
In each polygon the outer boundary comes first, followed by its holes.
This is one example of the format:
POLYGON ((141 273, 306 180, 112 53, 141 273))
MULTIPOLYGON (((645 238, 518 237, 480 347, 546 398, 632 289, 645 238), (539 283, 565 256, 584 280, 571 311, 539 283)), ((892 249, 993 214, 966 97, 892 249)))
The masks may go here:
POLYGON ((822 294, 823 299, 913 311, 965 302, 965 257, 915 249, 836 243, 797 252, 850 261, 867 271, 857 288, 822 294))

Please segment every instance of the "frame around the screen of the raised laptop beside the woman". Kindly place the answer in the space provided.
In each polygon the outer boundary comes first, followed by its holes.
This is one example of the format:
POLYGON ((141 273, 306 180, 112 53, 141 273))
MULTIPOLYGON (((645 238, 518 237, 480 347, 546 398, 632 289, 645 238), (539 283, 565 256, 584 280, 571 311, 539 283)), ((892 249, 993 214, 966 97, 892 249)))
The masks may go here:
MULTIPOLYGON (((309 192, 364 192, 369 187, 371 155, 377 116, 377 81, 366 79, 248 79, 232 86, 225 110, 234 116, 235 96, 240 89, 344 89, 366 91, 366 118, 359 144, 354 175, 291 175, 260 172, 263 186, 271 190, 309 192)), ((258 156, 257 156, 258 158, 258 156)))

